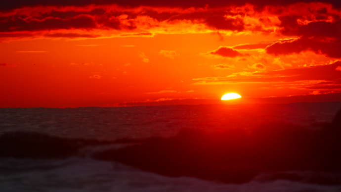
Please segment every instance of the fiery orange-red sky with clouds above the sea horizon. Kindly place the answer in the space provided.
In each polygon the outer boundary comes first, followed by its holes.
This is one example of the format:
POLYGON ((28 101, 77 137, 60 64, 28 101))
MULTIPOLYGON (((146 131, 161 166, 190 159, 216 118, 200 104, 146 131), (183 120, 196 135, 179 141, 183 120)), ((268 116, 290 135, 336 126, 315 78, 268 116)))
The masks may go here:
POLYGON ((0 2, 0 107, 341 101, 340 58, 339 0, 0 2))

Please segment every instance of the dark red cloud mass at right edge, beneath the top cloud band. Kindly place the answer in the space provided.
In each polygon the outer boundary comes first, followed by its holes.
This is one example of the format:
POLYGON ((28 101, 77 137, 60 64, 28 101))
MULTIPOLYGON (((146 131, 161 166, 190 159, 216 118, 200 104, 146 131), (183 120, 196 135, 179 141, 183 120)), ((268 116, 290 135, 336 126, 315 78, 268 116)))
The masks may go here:
MULTIPOLYGON (((317 10, 317 13, 326 14, 326 8, 317 10)), ((338 15, 328 14, 333 18, 328 21, 323 16, 305 17, 305 15, 280 16, 280 32, 286 36, 298 36, 297 40, 280 41, 266 48, 270 54, 292 54, 301 51, 314 51, 329 57, 341 58, 341 19, 338 15), (308 21, 307 23, 299 20, 308 21)), ((327 15, 326 15, 327 17, 327 15)))

